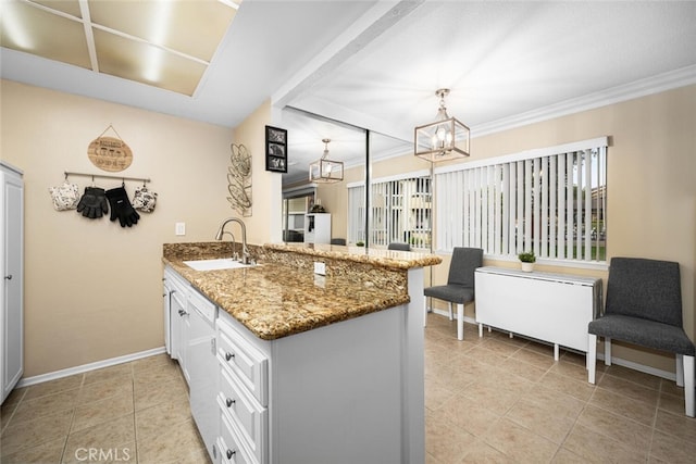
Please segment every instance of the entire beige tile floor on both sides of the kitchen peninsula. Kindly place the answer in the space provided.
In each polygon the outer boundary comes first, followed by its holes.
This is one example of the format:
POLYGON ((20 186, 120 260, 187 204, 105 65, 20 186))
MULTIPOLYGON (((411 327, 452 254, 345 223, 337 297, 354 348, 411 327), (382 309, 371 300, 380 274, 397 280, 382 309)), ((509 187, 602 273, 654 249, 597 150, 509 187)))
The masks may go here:
MULTIPOLYGON (((673 383, 598 363, 592 386, 584 356, 554 362, 548 346, 456 331, 428 316, 426 464, 694 462, 696 419, 673 383)), ((2 463, 207 462, 186 385, 163 354, 16 389, 1 414, 2 463)))

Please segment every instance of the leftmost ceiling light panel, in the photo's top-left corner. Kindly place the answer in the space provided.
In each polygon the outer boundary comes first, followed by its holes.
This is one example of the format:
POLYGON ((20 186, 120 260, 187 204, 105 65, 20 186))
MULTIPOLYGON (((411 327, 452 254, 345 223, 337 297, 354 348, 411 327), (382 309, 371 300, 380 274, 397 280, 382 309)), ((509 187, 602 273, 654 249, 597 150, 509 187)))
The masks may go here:
MULTIPOLYGON (((67 7, 71 2, 59 3, 67 7)), ((85 30, 79 21, 49 13, 29 3, 9 1, 2 4, 0 26, 2 47, 91 68, 85 30)))

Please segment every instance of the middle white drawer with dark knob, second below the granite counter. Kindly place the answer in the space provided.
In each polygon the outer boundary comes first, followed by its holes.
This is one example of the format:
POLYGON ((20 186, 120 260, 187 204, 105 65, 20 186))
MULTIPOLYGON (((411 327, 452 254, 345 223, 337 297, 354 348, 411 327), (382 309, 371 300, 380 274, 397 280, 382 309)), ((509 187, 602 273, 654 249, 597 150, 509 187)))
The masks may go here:
POLYGON ((234 374, 220 369, 220 409, 229 414, 232 422, 238 426, 249 451, 257 461, 264 462, 268 437, 268 410, 252 399, 238 384, 234 374))

